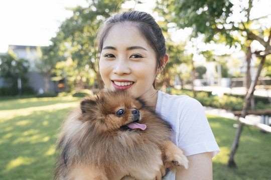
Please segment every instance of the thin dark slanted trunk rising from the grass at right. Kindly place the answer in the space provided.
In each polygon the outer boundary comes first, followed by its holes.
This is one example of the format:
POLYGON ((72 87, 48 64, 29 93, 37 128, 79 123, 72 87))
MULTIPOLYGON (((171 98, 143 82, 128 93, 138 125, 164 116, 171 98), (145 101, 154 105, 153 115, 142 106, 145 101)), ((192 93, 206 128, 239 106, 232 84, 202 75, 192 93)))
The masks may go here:
MULTIPOLYGON (((243 106, 242 114, 241 114, 241 117, 243 117, 243 118, 246 116, 247 109, 248 109, 250 101, 252 99, 253 92, 255 90, 255 86, 257 84, 257 80, 259 78, 260 71, 261 71, 262 66, 264 64, 264 61, 265 61, 265 56, 262 57, 262 59, 260 61, 260 64, 258 66, 258 71, 257 71, 256 77, 255 77, 254 81, 251 82, 250 87, 249 87, 249 89, 247 91, 247 94, 245 96, 244 106, 243 106)), ((241 132, 242 132, 242 128, 243 128, 243 124, 239 122, 239 126, 238 126, 238 129, 237 129, 236 135, 235 135, 235 139, 234 139, 232 147, 231 147, 231 152, 229 154, 229 160, 228 160, 228 166, 229 167, 236 167, 236 163, 233 160, 233 156, 234 156, 234 154, 235 154, 235 152, 237 150, 237 147, 238 147, 238 143, 239 143, 240 135, 241 135, 241 132)))

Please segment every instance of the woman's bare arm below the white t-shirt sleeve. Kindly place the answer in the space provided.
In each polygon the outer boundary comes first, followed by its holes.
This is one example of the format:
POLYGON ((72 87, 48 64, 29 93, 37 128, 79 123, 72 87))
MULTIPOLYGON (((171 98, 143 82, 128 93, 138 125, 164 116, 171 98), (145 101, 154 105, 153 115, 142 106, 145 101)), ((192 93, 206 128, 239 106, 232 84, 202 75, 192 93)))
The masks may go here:
POLYGON ((187 158, 189 167, 176 172, 176 180, 213 179, 212 152, 189 155, 187 158))

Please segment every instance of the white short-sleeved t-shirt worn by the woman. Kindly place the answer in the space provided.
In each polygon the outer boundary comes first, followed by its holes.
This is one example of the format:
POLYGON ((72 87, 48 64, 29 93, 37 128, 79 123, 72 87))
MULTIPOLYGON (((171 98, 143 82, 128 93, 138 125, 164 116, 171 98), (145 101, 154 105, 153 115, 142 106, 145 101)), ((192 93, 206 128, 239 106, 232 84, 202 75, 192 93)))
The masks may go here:
MULTIPOLYGON (((220 152, 205 111, 196 99, 159 90, 156 112, 172 125, 172 141, 185 155, 212 152, 214 157, 220 152)), ((163 179, 175 179, 175 173, 167 173, 163 179)))

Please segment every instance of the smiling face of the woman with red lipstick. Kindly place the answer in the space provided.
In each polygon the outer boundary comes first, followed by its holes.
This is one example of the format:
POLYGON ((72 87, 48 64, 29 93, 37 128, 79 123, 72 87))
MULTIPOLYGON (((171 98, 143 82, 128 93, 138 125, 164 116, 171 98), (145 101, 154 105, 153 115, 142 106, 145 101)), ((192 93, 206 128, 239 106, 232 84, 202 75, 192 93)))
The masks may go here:
POLYGON ((99 68, 108 89, 127 89, 136 97, 156 92, 155 52, 132 24, 111 27, 103 43, 99 68))

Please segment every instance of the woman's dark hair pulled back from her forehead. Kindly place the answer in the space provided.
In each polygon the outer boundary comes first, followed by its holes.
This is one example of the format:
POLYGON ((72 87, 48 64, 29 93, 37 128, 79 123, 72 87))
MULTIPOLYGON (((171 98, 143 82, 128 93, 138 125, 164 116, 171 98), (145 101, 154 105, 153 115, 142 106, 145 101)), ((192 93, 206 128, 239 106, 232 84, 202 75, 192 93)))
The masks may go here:
MULTIPOLYGON (((104 39, 111 27, 115 24, 125 22, 131 22, 138 27, 140 33, 142 33, 149 45, 154 49, 157 64, 162 68, 162 64, 164 64, 163 57, 166 54, 165 37, 154 17, 147 12, 141 11, 125 11, 120 14, 115 14, 112 17, 109 17, 103 26, 100 26, 97 34, 98 58, 103 47, 104 39)), ((154 87, 156 88, 156 80, 154 82, 154 87)))

